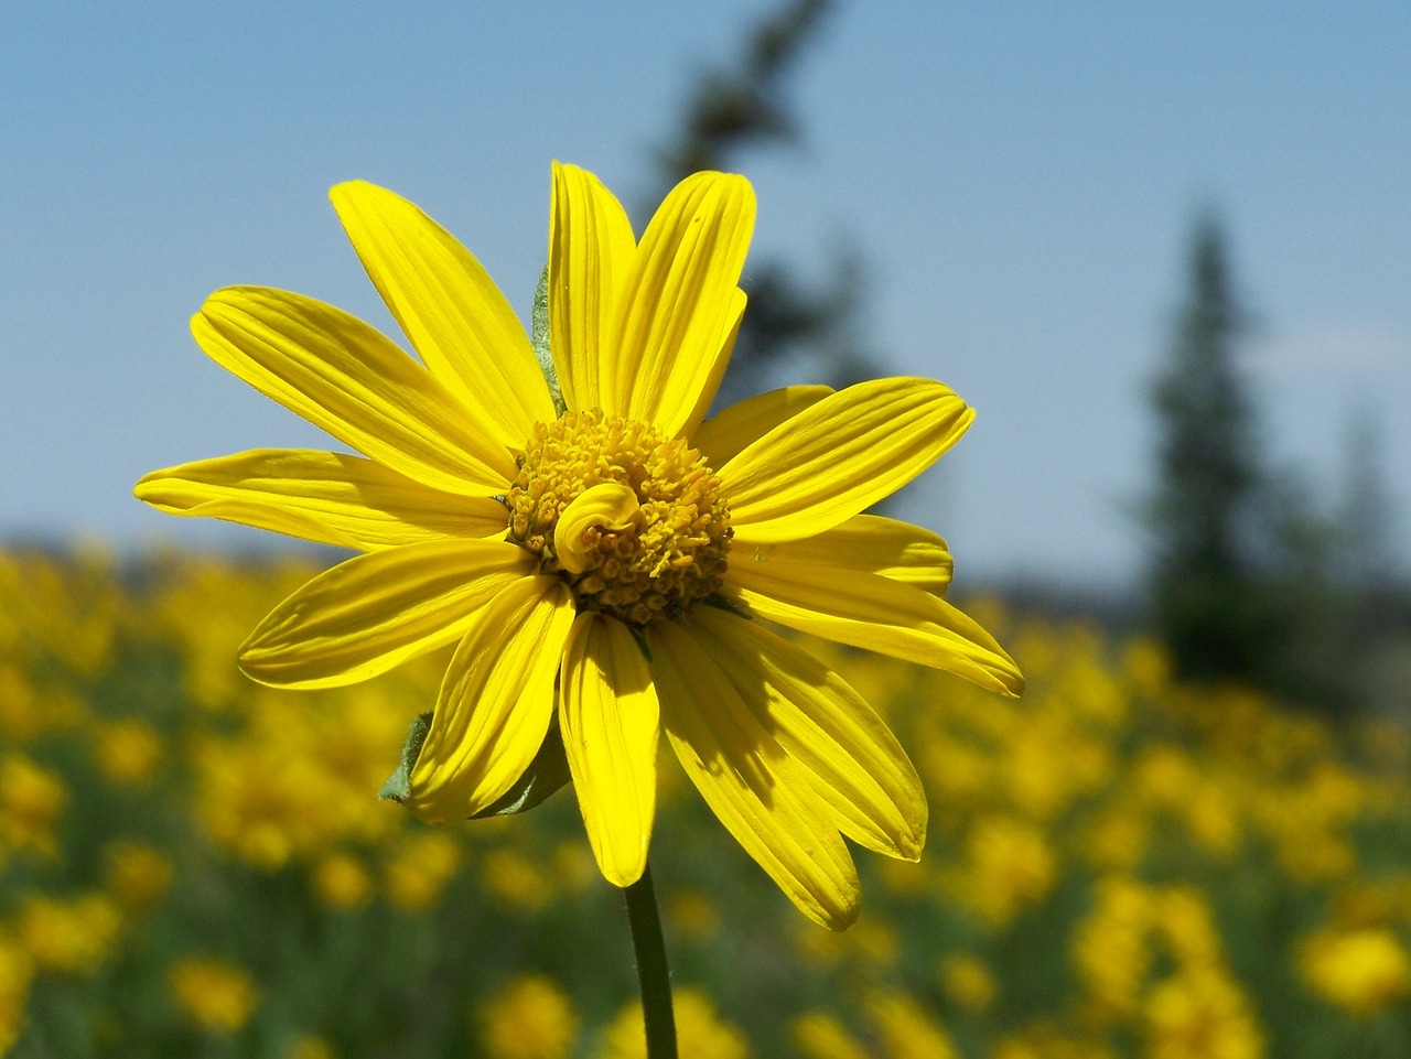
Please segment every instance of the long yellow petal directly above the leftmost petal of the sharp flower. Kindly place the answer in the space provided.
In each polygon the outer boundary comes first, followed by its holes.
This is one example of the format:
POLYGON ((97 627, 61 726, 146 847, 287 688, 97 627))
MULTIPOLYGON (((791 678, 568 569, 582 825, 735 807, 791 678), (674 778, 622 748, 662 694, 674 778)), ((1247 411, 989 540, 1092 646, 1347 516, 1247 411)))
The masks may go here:
POLYGON ((223 368, 364 455, 435 489, 504 492, 509 450, 387 337, 340 309, 270 288, 217 290, 192 319, 223 368))

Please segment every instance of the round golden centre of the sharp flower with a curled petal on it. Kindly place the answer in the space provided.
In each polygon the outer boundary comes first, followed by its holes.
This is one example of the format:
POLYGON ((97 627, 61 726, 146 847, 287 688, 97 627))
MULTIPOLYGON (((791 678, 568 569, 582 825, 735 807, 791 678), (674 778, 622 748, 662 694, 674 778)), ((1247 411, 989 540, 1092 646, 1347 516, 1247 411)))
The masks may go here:
POLYGON ((505 503, 509 540, 573 588, 579 611, 634 626, 720 588, 729 506, 682 439, 600 409, 535 423, 505 503))

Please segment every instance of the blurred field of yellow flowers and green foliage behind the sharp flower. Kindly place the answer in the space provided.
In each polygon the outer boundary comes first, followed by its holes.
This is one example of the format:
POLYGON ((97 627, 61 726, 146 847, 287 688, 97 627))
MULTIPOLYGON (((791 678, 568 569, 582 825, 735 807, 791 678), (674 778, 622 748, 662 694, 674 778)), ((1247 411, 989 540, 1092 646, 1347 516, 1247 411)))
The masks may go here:
MULTIPOLYGON (((236 670, 309 560, 0 553, 0 1055, 643 1055, 569 792, 432 829, 375 792, 442 659, 236 670)), ((974 605, 1002 701, 831 650, 926 778, 920 864, 800 917, 663 766, 683 1056, 1411 1055, 1411 739, 1173 684, 1151 644, 974 605)))

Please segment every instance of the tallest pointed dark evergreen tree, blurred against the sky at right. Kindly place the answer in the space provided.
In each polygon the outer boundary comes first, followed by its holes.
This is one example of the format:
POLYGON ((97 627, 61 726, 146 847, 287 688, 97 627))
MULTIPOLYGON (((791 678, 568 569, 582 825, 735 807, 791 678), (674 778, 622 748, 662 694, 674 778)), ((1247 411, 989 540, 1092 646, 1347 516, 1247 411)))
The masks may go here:
POLYGON ((1195 226, 1170 364, 1151 393, 1158 447, 1146 508, 1150 604, 1178 675, 1263 684, 1277 651, 1277 622, 1257 556, 1266 481, 1236 364, 1245 329, 1223 233, 1205 214, 1195 226))

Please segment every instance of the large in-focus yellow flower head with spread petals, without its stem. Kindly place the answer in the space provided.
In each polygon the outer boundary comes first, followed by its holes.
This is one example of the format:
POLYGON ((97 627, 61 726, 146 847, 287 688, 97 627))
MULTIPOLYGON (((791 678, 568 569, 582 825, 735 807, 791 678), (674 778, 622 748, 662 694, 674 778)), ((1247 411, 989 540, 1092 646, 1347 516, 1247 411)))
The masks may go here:
POLYGON ((628 886, 665 730, 783 891, 818 922, 852 922, 842 836, 916 859, 921 784, 872 708, 761 622, 1017 694, 1009 656, 943 598, 945 543, 861 513, 972 412, 896 378, 792 386, 706 419, 745 309, 744 178, 687 178, 636 240, 597 178, 555 166, 543 330, 562 403, 464 247, 381 188, 332 197, 419 361, 268 288, 219 290, 192 331, 361 455, 255 450, 137 485, 169 513, 363 553, 255 628, 246 673, 330 687, 454 643, 402 798, 423 819, 495 805, 557 726, 598 866, 628 886))

